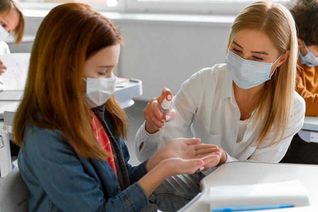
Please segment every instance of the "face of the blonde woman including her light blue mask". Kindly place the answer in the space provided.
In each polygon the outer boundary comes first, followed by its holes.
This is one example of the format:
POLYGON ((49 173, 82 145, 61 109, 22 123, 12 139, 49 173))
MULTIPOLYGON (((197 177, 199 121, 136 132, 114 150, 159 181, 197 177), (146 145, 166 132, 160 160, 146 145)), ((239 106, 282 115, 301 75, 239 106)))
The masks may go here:
POLYGON ((284 62, 281 57, 282 55, 278 54, 276 47, 264 32, 244 29, 234 34, 228 50, 227 63, 231 63, 229 66, 232 67, 233 80, 236 79, 237 83, 241 84, 238 85, 239 87, 248 89, 269 80, 275 68, 284 62), (233 56, 230 57, 231 55, 233 56), (243 73, 249 73, 244 79, 248 85, 239 83, 240 77, 236 77, 243 76, 243 73))

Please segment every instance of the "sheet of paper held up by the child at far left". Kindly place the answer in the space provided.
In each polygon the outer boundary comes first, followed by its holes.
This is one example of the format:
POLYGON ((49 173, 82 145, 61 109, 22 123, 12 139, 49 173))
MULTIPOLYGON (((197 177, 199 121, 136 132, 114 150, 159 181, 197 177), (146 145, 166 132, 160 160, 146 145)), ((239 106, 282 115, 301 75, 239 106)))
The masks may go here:
POLYGON ((12 53, 0 55, 0 60, 7 67, 2 74, 3 89, 23 90, 27 76, 30 53, 12 53))

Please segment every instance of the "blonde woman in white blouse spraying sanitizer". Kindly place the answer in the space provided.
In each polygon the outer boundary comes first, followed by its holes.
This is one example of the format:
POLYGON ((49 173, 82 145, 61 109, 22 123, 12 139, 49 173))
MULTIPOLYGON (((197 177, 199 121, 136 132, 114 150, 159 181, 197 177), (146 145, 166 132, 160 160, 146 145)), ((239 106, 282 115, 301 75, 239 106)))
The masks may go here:
POLYGON ((218 165, 278 163, 304 121, 305 102, 295 92, 297 49, 295 22, 286 8, 267 1, 246 6, 232 25, 225 63, 185 81, 169 114, 158 108, 171 98, 168 89, 147 104, 135 139, 139 160, 190 127, 202 143, 223 149, 218 165))

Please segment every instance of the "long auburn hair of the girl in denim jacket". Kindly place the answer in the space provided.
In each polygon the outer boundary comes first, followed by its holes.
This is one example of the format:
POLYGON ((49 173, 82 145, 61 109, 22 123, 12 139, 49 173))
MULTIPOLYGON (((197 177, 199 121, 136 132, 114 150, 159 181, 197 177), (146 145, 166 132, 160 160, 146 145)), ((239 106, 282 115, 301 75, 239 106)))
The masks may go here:
MULTIPOLYGON (((97 144, 91 128, 83 95, 83 66, 94 53, 120 43, 122 37, 114 24, 89 6, 70 3, 52 9, 31 51, 23 98, 14 117, 15 143, 22 145, 30 122, 61 131, 83 157, 106 160, 110 154, 97 144)), ((125 138, 125 112, 113 96, 105 108, 115 135, 125 138)))

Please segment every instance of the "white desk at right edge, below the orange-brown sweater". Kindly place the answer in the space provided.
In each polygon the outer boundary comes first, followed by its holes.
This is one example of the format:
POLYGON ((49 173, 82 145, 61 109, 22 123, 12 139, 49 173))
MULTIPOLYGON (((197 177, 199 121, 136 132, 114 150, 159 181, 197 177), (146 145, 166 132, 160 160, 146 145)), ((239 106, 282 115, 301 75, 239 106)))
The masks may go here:
POLYGON ((298 135, 305 142, 318 143, 318 117, 305 116, 304 124, 299 130, 298 135))

